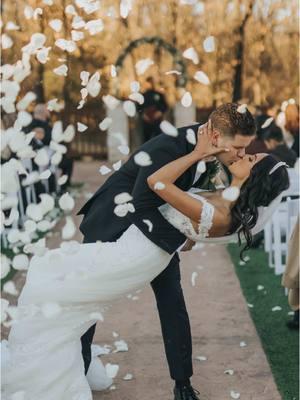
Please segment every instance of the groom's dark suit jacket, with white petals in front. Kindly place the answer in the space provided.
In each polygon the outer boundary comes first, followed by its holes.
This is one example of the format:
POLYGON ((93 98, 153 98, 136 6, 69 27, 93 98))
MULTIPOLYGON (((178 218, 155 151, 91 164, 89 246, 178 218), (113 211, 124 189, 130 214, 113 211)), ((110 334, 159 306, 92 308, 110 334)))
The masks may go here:
MULTIPOLYGON (((142 145, 137 152, 147 152, 152 164, 141 167, 134 162, 134 153, 129 160, 111 175, 78 214, 84 214, 80 230, 86 242, 114 241, 131 225, 136 225, 145 236, 169 254, 176 252, 186 240, 185 236, 174 228, 159 212, 158 207, 164 201, 147 184, 147 177, 163 165, 187 153, 194 146, 186 140, 187 129, 197 133, 200 124, 178 129, 178 136, 161 134, 142 145), (135 212, 125 217, 114 214, 114 198, 117 194, 131 194, 135 212), (149 232, 143 220, 150 220, 153 229, 149 232)), ((194 181, 197 165, 188 169, 175 184, 182 190, 188 190, 194 181)), ((197 186, 197 183, 193 186, 197 186)))

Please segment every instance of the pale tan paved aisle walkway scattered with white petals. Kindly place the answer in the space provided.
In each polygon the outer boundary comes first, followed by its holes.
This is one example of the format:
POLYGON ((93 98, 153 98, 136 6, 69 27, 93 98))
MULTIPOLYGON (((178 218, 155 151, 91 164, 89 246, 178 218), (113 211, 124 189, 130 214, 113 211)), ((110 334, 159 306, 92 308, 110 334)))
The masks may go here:
MULTIPOLYGON (((100 165, 100 162, 76 163, 74 181, 86 182, 86 191, 94 192, 104 180, 98 172, 100 165)), ((86 197, 87 193, 78 200, 76 210, 86 197)), ((74 218, 76 223, 81 220, 74 218)), ((80 233, 74 239, 81 241, 80 233)), ((59 241, 57 232, 48 246, 53 248, 59 241)), ((182 286, 193 334, 192 382, 201 392, 201 400, 280 400, 226 248, 206 245, 201 250, 182 253, 181 259, 182 286), (193 272, 198 273, 195 286, 191 283, 193 272), (240 347, 241 342, 246 346, 240 347), (225 374, 228 369, 234 374, 225 374), (237 394, 231 397, 231 391, 240 393, 240 397, 237 394)), ((15 277, 18 288, 24 282, 22 275, 18 273, 15 277)), ((12 296, 7 297, 11 304, 15 302, 12 296)), ((129 351, 102 357, 104 364, 120 366, 115 390, 95 392, 94 400, 173 400, 173 384, 150 287, 133 293, 125 302, 116 302, 104 323, 98 324, 95 343, 114 348, 114 341, 120 339, 125 340, 129 351), (115 338, 113 332, 119 337, 115 338), (126 374, 132 374, 133 379, 123 380, 126 374)))

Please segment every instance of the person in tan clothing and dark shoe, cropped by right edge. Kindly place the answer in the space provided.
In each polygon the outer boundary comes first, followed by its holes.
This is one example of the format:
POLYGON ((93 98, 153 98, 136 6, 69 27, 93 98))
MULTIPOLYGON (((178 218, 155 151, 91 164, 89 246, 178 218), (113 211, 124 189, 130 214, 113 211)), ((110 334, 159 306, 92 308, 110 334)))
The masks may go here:
POLYGON ((282 285, 289 289, 288 301, 294 317, 287 322, 290 329, 299 329, 299 217, 289 241, 286 270, 282 285))

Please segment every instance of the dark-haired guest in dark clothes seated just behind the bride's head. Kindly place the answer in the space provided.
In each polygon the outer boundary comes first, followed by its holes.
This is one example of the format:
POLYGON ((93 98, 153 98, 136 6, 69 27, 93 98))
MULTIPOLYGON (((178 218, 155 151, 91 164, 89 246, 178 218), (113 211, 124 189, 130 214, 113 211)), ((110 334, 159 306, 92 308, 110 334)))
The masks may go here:
POLYGON ((282 130, 277 125, 272 123, 263 141, 268 153, 277 156, 281 161, 286 162, 289 167, 294 167, 297 161, 297 154, 286 145, 282 130))

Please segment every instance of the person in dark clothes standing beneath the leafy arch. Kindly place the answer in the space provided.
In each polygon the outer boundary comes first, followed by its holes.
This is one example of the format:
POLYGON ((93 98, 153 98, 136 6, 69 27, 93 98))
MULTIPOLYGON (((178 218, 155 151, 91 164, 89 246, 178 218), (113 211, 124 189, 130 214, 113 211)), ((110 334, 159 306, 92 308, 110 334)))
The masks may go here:
POLYGON ((142 119, 143 143, 162 133, 160 124, 168 109, 163 93, 154 87, 152 77, 147 79, 148 88, 143 93, 144 103, 139 107, 142 119))

